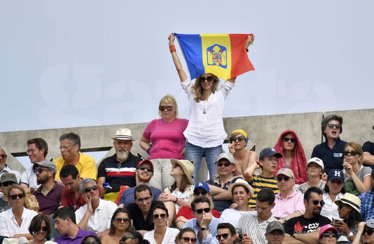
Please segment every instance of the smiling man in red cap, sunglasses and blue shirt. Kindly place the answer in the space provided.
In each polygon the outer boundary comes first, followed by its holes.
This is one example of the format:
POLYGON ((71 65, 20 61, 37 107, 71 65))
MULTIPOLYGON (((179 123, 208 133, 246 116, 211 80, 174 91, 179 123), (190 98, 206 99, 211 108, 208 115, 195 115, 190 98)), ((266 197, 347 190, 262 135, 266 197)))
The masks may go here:
MULTIPOLYGON (((140 184, 149 185, 149 182, 153 176, 152 162, 147 159, 140 161, 137 165, 137 171, 135 172, 135 175, 137 177, 137 186, 140 184)), ((162 193, 162 190, 154 188, 153 186, 150 186, 150 189, 152 192, 153 200, 157 200, 159 195, 162 193)), ((135 187, 124 190, 121 194, 118 207, 126 208, 129 203, 135 202, 134 194, 135 187)))

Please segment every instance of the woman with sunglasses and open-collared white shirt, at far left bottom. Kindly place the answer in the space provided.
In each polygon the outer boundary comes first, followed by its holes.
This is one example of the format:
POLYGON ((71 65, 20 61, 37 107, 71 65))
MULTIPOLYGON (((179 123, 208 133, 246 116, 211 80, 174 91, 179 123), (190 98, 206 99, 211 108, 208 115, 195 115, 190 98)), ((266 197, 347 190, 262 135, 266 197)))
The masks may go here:
POLYGON ((28 228, 38 213, 24 207, 25 189, 19 184, 13 184, 9 187, 8 196, 12 207, 0 213, 0 236, 33 239, 28 228))

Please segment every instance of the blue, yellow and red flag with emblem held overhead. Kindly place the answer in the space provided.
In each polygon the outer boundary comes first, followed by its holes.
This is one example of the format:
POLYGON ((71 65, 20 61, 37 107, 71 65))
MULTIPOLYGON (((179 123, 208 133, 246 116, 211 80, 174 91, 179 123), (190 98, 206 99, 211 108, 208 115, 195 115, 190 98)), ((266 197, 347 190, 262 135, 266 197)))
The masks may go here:
MULTIPOLYGON (((252 34, 249 34, 252 35, 252 34)), ((174 34, 186 59, 191 79, 212 73, 230 79, 254 70, 245 50, 248 34, 174 34)))

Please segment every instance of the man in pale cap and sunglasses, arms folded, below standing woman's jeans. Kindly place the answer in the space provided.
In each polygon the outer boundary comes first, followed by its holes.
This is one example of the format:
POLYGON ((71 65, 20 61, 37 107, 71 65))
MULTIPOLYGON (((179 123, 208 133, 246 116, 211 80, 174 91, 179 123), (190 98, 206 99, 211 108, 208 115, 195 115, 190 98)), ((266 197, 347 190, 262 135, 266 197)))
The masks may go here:
POLYGON ((218 212, 222 212, 226 208, 229 208, 232 202, 231 193, 228 191, 229 185, 236 182, 237 179, 243 179, 239 174, 235 173, 235 161, 234 157, 230 153, 221 153, 217 158, 217 172, 218 177, 213 180, 208 180, 210 194, 212 195, 214 202, 214 209, 218 212))

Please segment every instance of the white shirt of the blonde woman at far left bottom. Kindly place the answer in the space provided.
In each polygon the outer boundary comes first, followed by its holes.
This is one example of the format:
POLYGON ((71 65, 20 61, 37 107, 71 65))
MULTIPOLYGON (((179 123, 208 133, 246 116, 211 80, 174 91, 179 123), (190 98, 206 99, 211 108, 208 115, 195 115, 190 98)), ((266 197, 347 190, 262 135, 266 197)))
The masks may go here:
POLYGON ((0 235, 11 237, 15 234, 29 234, 28 227, 30 226, 33 217, 37 216, 38 213, 33 210, 28 210, 24 207, 22 212, 22 223, 18 225, 16 218, 13 215, 13 208, 0 213, 0 235))

